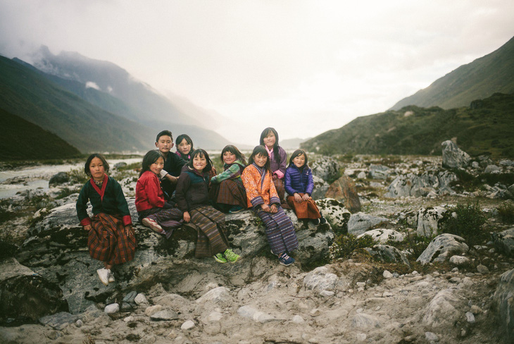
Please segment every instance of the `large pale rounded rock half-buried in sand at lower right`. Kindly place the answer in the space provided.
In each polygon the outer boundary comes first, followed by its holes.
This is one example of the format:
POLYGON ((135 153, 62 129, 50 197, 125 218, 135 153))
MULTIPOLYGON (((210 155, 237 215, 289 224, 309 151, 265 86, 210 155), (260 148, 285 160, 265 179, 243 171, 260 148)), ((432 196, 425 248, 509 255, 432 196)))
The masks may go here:
POLYGON ((465 302, 465 298, 457 295, 455 289, 441 290, 430 301, 422 323, 432 328, 453 326, 462 314, 458 309, 462 308, 465 302))

